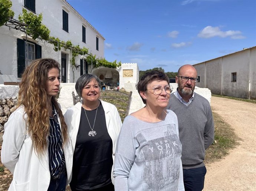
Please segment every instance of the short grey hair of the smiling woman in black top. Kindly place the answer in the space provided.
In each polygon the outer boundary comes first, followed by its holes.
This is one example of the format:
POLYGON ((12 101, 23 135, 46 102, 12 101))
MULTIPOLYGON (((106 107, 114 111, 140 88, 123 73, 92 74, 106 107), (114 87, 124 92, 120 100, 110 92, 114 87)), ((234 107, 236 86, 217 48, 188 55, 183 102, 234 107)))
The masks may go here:
POLYGON ((99 86, 101 85, 101 80, 94 74, 83 74, 82 76, 80 76, 78 78, 78 80, 76 81, 76 85, 75 85, 75 88, 76 88, 76 93, 82 97, 82 91, 83 91, 83 88, 91 82, 92 79, 95 79, 99 86))

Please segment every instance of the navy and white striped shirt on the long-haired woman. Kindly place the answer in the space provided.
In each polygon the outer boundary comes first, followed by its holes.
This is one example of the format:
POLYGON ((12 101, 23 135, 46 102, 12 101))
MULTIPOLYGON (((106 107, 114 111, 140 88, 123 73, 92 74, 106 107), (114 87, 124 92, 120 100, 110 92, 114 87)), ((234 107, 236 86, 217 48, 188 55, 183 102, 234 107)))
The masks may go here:
POLYGON ((53 106, 53 117, 50 117, 50 134, 48 136, 49 169, 51 176, 55 176, 65 167, 65 156, 62 149, 62 135, 57 119, 58 112, 53 106))

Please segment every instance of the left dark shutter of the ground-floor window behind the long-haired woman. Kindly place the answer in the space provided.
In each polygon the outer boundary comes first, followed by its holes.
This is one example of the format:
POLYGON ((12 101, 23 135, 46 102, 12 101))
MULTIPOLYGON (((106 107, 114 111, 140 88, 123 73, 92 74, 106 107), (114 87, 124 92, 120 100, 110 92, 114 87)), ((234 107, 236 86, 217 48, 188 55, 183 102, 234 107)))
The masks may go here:
POLYGON ((25 42, 22 39, 17 39, 17 66, 17 76, 21 78, 25 69, 25 42))

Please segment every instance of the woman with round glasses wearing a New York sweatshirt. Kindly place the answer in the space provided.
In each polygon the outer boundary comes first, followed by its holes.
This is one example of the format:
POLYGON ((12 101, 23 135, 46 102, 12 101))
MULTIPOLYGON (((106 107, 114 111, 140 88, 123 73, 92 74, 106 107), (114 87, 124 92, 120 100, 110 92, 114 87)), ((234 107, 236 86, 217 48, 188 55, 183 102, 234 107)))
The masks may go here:
POLYGON ((169 78, 151 71, 137 88, 146 106, 122 125, 115 152, 115 191, 184 190, 177 116, 165 109, 173 90, 169 78))

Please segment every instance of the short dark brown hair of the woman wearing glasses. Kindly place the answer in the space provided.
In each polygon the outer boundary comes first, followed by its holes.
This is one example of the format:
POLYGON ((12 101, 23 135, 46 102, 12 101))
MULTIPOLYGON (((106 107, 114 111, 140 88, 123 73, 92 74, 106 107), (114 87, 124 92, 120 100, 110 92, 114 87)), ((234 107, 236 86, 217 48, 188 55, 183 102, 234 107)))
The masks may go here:
MULTIPOLYGON (((145 92, 147 90, 147 85, 154 80, 164 80, 169 84, 169 78, 164 72, 161 72, 159 70, 152 70, 150 72, 145 73, 144 76, 142 76, 140 81, 138 82, 137 89, 139 94, 141 91, 145 92)), ((142 96, 141 99, 143 103, 146 104, 146 101, 142 98, 142 96)))

